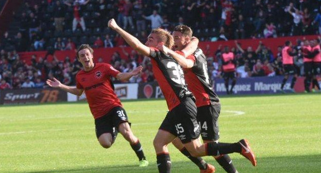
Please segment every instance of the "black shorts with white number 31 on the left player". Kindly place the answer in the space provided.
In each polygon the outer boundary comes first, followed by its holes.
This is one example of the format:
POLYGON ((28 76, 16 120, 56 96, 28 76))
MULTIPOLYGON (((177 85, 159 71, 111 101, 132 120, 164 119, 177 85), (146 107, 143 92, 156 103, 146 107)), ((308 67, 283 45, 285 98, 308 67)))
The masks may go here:
POLYGON ((110 133, 114 141, 122 122, 128 122, 126 111, 122 107, 114 107, 106 115, 95 119, 97 139, 104 133, 110 133))

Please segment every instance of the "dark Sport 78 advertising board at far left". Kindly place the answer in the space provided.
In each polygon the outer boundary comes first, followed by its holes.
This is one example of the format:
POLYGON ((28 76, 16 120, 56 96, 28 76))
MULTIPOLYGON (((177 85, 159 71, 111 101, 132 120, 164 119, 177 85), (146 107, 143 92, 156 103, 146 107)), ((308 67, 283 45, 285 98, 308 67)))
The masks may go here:
POLYGON ((26 103, 46 103, 65 102, 67 93, 58 89, 19 89, 1 90, 0 104, 26 104, 26 103))

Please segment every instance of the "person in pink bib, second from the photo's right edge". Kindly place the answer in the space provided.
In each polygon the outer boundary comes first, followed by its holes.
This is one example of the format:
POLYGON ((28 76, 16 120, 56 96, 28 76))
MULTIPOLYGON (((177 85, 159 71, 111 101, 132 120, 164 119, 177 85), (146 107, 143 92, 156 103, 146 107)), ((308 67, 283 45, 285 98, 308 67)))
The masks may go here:
POLYGON ((309 40, 304 41, 304 45, 302 46, 303 53, 303 65, 304 65, 304 88, 305 92, 310 92, 310 85, 312 81, 312 60, 311 57, 312 47, 310 46, 309 40))

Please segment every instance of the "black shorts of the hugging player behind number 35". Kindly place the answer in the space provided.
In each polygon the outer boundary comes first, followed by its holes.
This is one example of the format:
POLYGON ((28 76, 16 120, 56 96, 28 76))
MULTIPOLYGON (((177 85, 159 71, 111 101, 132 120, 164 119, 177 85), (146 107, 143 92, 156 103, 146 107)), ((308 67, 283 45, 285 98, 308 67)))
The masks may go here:
POLYGON ((203 140, 218 140, 220 138, 218 128, 218 116, 221 112, 221 104, 201 106, 197 108, 197 121, 200 126, 203 140))

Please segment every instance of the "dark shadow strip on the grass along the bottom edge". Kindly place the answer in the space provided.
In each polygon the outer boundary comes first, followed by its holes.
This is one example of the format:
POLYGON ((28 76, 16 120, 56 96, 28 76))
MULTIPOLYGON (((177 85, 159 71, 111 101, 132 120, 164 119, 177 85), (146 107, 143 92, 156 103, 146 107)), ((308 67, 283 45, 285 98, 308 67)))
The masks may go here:
MULTIPOLYGON (((298 151, 299 153, 299 151, 298 151)), ((257 158, 258 165, 253 167, 248 160, 232 154, 231 158, 233 164, 239 172, 321 172, 321 154, 307 155, 307 156, 283 156, 283 157, 264 157, 257 158), (237 157, 237 158, 235 158, 237 157)), ((216 167, 216 172, 225 172, 211 157, 204 157, 204 159, 216 167)), ((156 164, 150 163, 148 167, 138 167, 137 165, 115 165, 102 167, 85 167, 85 168, 71 168, 61 170, 44 170, 44 171, 30 171, 35 173, 46 172, 121 172, 121 173, 136 173, 136 172, 158 172, 156 164)), ((189 161, 172 161, 172 172, 199 172, 199 169, 189 161)))

